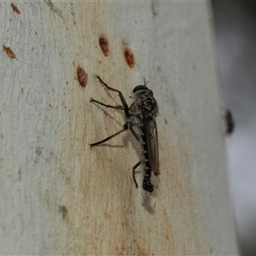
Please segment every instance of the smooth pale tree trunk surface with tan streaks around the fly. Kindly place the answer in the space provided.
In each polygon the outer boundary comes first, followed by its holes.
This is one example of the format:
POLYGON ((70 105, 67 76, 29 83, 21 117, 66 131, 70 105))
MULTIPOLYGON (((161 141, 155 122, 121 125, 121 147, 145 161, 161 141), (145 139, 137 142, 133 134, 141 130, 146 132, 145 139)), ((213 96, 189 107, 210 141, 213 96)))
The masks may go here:
POLYGON ((0 253, 236 254, 208 3, 0 3, 0 253), (108 40, 103 55, 99 38, 108 40), (131 49, 129 67, 124 50, 131 49), (86 87, 77 67, 88 74, 86 87), (121 90, 149 80, 159 102, 160 175, 141 189, 141 149, 90 148, 125 122, 95 74, 121 90))

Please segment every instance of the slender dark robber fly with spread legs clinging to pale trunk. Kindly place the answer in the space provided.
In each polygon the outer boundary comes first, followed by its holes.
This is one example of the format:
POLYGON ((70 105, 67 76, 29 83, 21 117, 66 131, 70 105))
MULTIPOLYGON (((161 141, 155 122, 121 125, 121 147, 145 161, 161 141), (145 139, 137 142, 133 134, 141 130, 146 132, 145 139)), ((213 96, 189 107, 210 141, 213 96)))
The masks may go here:
POLYGON ((105 143, 111 138, 118 136, 123 131, 130 129, 131 133, 136 137, 138 143, 140 143, 143 148, 143 158, 132 168, 132 177, 136 187, 138 187, 135 178, 135 170, 138 166, 143 164, 143 189, 151 193, 154 190, 153 185, 150 182, 151 172, 153 171, 155 175, 159 174, 158 137, 155 122, 158 106, 154 99, 153 91, 148 89, 148 83, 144 82, 143 85, 137 85, 132 91, 134 102, 128 107, 125 97, 119 90, 109 87, 99 76, 96 76, 96 78, 99 79, 102 86, 107 90, 113 90, 119 93, 123 106, 110 106, 92 98, 90 98, 90 102, 95 102, 106 108, 124 110, 126 122, 125 125, 123 125, 122 130, 114 133, 112 136, 106 137, 100 142, 92 143, 90 146, 94 147, 105 143))

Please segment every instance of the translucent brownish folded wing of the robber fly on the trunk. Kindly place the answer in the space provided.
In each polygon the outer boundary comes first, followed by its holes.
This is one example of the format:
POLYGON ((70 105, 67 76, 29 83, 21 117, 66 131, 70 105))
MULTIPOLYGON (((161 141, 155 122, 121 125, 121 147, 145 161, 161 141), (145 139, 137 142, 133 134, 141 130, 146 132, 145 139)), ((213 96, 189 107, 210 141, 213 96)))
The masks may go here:
POLYGON ((158 137, 155 119, 144 118, 148 161, 155 175, 159 174, 158 137))

